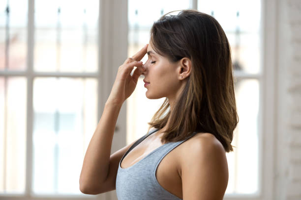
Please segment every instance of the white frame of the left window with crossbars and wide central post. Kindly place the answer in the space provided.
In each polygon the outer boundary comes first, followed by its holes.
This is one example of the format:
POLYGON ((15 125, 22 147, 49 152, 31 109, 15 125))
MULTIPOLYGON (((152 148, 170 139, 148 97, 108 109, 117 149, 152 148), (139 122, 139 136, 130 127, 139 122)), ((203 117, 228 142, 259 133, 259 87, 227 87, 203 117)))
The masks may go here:
MULTIPOLYGON (((28 0, 27 25, 27 70, 0 71, 0 76, 21 76, 27 78, 27 141, 26 141, 26 184, 24 194, 0 194, 5 200, 111 200, 115 199, 115 191, 100 195, 36 195, 32 193, 32 131, 33 131, 33 78, 35 77, 93 77, 98 79, 97 87, 97 122, 100 120, 104 104, 110 95, 111 88, 120 64, 127 57, 127 0, 99 0, 98 21, 98 72, 96 73, 61 73, 34 72, 34 0, 28 0)), ((125 105, 125 104, 124 104, 125 105)), ((120 109, 117 129, 113 137, 111 152, 125 146, 126 139, 126 107, 120 109), (120 133, 119 133, 120 132, 120 133), (122 134, 121 134, 122 133, 122 134), (118 141, 124 141, 119 143, 118 141)), ((96 125, 95 125, 96 127, 96 125)))

